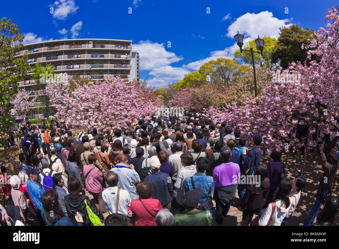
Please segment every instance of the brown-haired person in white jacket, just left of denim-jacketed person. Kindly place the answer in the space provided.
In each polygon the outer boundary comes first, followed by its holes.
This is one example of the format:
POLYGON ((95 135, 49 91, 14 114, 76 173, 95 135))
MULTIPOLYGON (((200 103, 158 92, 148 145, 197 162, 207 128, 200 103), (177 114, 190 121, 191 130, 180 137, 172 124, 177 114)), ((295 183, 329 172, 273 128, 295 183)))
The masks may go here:
POLYGON ((180 155, 181 159, 181 165, 183 166, 181 169, 179 169, 177 173, 177 179, 174 184, 175 189, 178 190, 177 193, 177 203, 180 207, 180 212, 183 212, 185 210, 185 207, 182 205, 182 186, 184 184, 184 181, 186 177, 192 177, 195 173, 197 173, 197 169, 195 165, 193 165, 193 157, 191 153, 182 153, 180 155))

